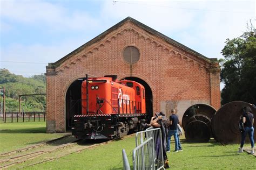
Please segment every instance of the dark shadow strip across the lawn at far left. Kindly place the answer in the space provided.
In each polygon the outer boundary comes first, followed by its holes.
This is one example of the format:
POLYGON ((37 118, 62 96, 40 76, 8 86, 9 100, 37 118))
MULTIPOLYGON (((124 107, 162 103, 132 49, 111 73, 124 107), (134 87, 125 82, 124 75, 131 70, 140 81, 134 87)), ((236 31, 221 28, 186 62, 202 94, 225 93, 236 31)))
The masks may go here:
POLYGON ((0 133, 46 133, 46 128, 3 129, 0 133))

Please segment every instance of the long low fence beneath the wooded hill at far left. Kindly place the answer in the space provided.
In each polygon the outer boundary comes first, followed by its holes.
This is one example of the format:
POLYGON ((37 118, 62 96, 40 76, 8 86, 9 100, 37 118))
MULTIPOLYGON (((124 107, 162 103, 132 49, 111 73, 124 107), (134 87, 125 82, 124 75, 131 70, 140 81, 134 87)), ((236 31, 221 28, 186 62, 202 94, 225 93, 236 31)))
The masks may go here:
POLYGON ((26 112, 26 113, 21 113, 19 114, 19 112, 6 112, 5 113, 6 117, 4 117, 4 115, 0 114, 0 119, 2 119, 2 121, 4 123, 9 122, 41 122, 44 121, 45 122, 45 112, 26 112))

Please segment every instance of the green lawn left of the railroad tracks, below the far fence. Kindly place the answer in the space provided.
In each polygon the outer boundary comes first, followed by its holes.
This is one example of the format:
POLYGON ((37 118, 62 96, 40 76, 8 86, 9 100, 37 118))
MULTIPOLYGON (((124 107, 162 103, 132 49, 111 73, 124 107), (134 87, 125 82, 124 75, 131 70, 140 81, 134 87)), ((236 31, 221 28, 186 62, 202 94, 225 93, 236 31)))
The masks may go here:
POLYGON ((8 152, 61 137, 47 134, 45 122, 0 123, 0 152, 8 152))

